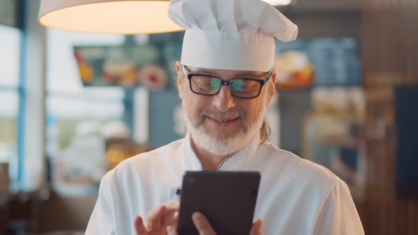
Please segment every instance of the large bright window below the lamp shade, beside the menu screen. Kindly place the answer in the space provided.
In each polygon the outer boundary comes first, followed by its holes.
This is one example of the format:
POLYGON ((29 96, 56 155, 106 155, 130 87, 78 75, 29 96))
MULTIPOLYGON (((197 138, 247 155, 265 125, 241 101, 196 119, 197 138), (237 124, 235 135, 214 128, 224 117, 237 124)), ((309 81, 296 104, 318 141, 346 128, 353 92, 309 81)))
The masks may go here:
POLYGON ((84 87, 73 47, 122 45, 125 37, 48 29, 47 42, 46 153, 52 185, 64 195, 96 193, 106 168, 102 127, 123 120, 125 92, 84 87))

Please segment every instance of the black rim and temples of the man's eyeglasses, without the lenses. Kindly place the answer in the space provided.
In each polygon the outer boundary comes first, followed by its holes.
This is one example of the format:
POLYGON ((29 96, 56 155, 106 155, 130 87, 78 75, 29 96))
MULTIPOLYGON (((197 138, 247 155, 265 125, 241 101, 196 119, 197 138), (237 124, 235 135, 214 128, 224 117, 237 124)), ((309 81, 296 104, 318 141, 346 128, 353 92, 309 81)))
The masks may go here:
POLYGON ((218 95, 218 93, 220 92, 220 90, 222 89, 222 86, 226 85, 228 87, 228 89, 230 90, 230 94, 232 97, 235 98, 244 98, 244 99, 249 99, 249 98, 257 98, 260 96, 261 90, 263 89, 264 84, 267 83, 267 81, 269 81, 269 79, 271 78, 271 75, 273 74, 273 69, 269 70, 269 73, 266 74, 266 76, 264 76, 264 79, 252 79, 252 78, 235 78, 235 79, 231 79, 230 81, 224 81, 223 79, 221 79, 219 76, 214 76, 214 75, 210 75, 210 74, 198 74, 198 73, 189 73, 186 69, 186 66, 182 65, 181 66, 182 70, 183 70, 183 74, 186 76, 186 78, 188 79, 188 86, 190 87, 190 90, 193 93, 196 93, 200 96, 216 96, 218 95), (193 76, 207 76, 210 78, 217 78, 220 80, 220 86, 218 88, 218 91, 216 91, 216 93, 213 94, 203 94, 203 93, 198 93, 197 91, 193 91, 193 88, 191 86, 191 78, 193 76), (249 97, 242 97, 242 96, 235 96, 232 91, 231 91, 231 82, 234 80, 246 80, 246 81, 257 81, 260 84, 260 89, 259 92, 255 95, 255 96, 249 96, 249 97))

